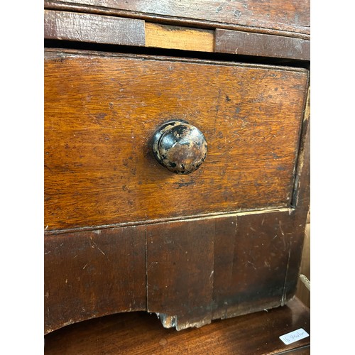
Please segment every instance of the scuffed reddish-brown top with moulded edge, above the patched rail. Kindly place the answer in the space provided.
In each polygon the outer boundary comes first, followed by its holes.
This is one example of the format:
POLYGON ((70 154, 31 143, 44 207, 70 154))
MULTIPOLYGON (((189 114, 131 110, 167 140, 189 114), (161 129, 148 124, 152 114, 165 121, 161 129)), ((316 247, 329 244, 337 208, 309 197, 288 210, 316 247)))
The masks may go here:
MULTIPOLYGON (((82 5, 84 11, 108 9, 118 15, 133 16, 144 19, 157 18, 162 21, 203 21, 204 26, 212 24, 230 24, 246 27, 248 31, 287 31, 290 36, 310 35, 310 1, 309 0, 65 0, 45 1, 46 7, 82 5), (59 4, 58 4, 59 3, 59 4)), ((80 9, 80 6, 76 7, 80 9)), ((83 11, 83 9, 82 9, 83 11)), ((200 23, 200 26, 202 23, 200 23)))

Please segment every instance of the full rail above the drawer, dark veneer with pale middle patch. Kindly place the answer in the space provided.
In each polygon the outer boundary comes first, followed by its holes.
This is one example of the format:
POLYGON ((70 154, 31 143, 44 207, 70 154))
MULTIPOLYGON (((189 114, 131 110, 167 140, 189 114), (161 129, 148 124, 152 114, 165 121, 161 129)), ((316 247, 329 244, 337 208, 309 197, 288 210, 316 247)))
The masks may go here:
POLYGON ((149 48, 310 60, 310 40, 170 26, 133 18, 68 11, 44 11, 44 38, 149 48))

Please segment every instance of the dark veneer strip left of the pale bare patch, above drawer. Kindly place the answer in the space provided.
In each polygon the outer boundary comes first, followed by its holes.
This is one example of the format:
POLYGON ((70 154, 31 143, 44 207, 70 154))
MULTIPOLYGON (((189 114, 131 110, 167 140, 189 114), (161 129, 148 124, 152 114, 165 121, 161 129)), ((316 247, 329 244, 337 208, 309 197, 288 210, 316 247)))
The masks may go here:
POLYGON ((67 11, 44 11, 44 38, 115 45, 146 44, 142 20, 67 11))

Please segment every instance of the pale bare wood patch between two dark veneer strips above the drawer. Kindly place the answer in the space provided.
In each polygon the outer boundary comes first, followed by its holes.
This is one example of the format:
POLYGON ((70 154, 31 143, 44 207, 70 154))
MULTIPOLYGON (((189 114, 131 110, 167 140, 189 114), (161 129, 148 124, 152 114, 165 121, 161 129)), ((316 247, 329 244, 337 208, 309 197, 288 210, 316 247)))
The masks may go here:
POLYGON ((214 31, 146 22, 146 47, 214 51, 214 31))

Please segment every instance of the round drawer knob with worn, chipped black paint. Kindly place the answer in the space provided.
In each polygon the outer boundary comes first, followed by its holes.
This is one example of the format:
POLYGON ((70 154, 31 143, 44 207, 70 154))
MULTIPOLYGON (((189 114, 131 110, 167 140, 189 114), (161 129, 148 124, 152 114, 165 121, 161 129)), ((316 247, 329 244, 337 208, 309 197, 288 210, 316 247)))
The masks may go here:
POLYGON ((177 174, 190 174, 207 156, 202 132, 187 121, 165 122, 153 137, 153 153, 158 162, 177 174))

